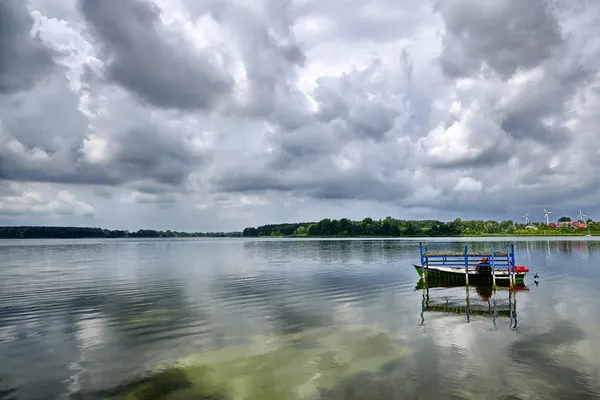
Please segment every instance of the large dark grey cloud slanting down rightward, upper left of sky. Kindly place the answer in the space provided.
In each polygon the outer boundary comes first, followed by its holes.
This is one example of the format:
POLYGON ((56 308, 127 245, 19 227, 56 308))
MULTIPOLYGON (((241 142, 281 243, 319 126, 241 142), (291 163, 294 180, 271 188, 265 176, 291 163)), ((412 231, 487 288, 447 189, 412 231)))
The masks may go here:
POLYGON ((208 52, 170 32, 161 10, 143 0, 79 0, 102 48, 106 78, 162 108, 210 109, 233 78, 208 52))

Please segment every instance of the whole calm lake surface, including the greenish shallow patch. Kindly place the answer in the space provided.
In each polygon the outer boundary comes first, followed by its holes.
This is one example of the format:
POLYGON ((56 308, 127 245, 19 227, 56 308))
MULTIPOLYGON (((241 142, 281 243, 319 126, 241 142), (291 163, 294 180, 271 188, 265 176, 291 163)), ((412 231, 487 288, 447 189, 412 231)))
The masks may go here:
POLYGON ((600 398, 600 241, 515 243, 491 297, 418 241, 0 241, 0 399, 600 398))

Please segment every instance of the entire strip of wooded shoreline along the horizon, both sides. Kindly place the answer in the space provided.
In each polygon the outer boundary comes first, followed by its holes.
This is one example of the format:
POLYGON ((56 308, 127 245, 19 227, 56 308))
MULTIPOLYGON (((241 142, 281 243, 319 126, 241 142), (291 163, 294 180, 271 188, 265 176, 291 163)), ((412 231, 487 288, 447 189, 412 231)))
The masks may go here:
MULTIPOLYGON (((561 217, 561 221, 570 221, 561 217)), ((585 236, 600 235, 600 224, 588 220, 584 227, 555 227, 541 222, 528 225, 493 220, 399 220, 386 217, 361 221, 323 219, 319 222, 269 224, 248 227, 242 232, 179 232, 140 229, 109 230, 94 227, 3 226, 0 239, 75 238, 189 238, 189 237, 477 237, 477 236, 585 236)))

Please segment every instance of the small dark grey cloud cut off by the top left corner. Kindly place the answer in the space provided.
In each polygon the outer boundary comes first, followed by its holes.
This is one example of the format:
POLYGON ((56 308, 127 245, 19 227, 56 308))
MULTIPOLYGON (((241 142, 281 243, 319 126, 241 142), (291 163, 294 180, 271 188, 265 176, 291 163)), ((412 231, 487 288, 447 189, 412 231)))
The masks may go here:
POLYGON ((0 1, 0 94, 31 87, 54 65, 39 34, 30 35, 32 28, 26 2, 0 1))

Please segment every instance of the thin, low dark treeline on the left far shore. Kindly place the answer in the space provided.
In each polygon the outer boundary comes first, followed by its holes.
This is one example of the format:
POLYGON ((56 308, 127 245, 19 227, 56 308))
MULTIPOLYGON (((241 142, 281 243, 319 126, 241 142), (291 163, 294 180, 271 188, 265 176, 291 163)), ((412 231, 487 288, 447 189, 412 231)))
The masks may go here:
POLYGON ((136 232, 76 226, 2 226, 0 239, 239 237, 241 232, 177 232, 140 229, 136 232))

